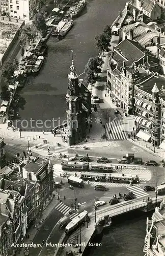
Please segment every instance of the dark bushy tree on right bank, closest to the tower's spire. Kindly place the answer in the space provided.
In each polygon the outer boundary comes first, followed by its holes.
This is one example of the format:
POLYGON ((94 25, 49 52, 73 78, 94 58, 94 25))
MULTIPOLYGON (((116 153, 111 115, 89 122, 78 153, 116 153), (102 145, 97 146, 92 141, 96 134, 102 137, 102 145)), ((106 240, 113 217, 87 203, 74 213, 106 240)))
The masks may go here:
POLYGON ((102 67, 103 61, 98 58, 89 58, 86 66, 85 66, 85 72, 87 73, 89 70, 92 72, 98 74, 101 72, 101 67, 102 67))

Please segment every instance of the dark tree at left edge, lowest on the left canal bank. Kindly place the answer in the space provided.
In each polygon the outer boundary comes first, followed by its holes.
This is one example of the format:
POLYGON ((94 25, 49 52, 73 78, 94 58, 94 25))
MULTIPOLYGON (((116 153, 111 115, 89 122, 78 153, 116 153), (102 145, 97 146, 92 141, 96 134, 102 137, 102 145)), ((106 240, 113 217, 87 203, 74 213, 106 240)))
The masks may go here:
POLYGON ((14 62, 8 61, 3 69, 2 75, 4 78, 7 79, 7 82, 10 82, 12 79, 12 76, 14 75, 14 71, 18 69, 18 60, 15 59, 14 62))

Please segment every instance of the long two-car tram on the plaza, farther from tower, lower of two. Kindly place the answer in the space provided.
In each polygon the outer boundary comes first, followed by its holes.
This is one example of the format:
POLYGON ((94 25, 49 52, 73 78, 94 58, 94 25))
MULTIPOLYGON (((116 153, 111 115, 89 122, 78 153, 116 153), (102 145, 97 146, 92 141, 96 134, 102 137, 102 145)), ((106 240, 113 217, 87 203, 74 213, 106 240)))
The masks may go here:
POLYGON ((98 182, 112 182, 112 183, 130 183, 136 184, 139 183, 139 177, 133 174, 100 174, 100 173, 89 173, 89 172, 81 172, 80 178, 82 180, 89 181, 98 181, 98 182))

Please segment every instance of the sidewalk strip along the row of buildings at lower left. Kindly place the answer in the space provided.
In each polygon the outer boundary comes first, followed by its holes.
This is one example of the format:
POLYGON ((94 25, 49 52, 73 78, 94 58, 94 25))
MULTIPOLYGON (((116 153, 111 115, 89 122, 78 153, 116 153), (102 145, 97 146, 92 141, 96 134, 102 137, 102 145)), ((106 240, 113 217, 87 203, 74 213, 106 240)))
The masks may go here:
MULTIPOLYGON (((25 243, 25 244, 31 244, 32 243, 36 234, 39 232, 39 229, 40 229, 41 225, 44 224, 45 219, 48 217, 48 215, 50 214, 50 212, 52 211, 54 206, 56 206, 57 203, 59 203, 59 201, 56 198, 53 198, 51 200, 51 202, 48 204, 46 209, 43 211, 42 217, 40 219, 38 219, 38 221, 36 222, 36 227, 32 226, 30 228, 30 230, 26 233, 26 234, 29 234, 29 238, 24 238, 24 240, 21 243, 25 243), (43 220, 43 222, 42 222, 42 224, 39 224, 39 221, 41 219, 43 220)), ((24 256, 24 248, 21 249, 19 255, 24 256)))

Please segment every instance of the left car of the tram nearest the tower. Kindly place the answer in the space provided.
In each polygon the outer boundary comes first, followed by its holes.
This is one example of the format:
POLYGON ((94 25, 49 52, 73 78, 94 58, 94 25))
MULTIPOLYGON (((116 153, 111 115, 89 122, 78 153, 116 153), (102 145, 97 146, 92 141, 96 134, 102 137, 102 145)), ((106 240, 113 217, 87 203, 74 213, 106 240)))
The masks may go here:
POLYGON ((82 162, 62 162, 62 169, 68 170, 68 172, 86 172, 89 169, 89 163, 82 162))

